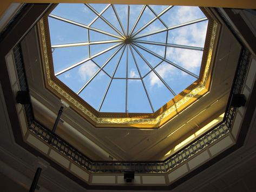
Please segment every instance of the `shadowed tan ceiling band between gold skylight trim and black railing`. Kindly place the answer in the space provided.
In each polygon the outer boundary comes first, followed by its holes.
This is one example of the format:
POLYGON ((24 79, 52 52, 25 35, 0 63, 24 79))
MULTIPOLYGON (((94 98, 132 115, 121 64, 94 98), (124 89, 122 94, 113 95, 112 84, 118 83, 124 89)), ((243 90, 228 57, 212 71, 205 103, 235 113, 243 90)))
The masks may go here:
MULTIPOLYGON (((240 44, 225 25, 222 25, 211 90, 160 129, 95 128, 73 109, 67 108, 62 114, 64 123, 59 123, 56 133, 93 160, 109 160, 108 155, 100 156, 93 145, 99 146, 113 156, 114 160, 162 160, 170 148, 225 111, 240 49, 240 44), (206 108, 207 110, 201 112, 206 108), (78 132, 73 128, 67 129, 65 124, 71 125, 78 132), (182 129, 177 130, 181 125, 184 125, 182 129), (175 134, 167 137, 174 131, 175 134), (88 145, 85 142, 88 139, 94 144, 88 145)), ((22 51, 35 118, 46 127, 52 128, 56 115, 50 114, 57 114, 61 102, 45 89, 36 28, 24 38, 22 51)))

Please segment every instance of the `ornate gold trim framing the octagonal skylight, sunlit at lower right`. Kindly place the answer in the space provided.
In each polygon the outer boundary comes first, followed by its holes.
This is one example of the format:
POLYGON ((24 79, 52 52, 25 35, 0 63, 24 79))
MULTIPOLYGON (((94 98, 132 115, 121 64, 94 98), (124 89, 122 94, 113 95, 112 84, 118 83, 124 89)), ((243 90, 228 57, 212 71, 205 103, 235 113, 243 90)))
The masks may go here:
POLYGON ((208 17, 209 23, 199 80, 175 96, 154 114, 98 112, 58 80, 54 76, 52 64, 47 20, 49 12, 38 22, 45 86, 57 97, 67 101, 71 108, 95 127, 159 128, 209 90, 220 24, 213 19, 211 12, 205 8, 202 8, 202 10, 204 10, 204 14, 208 17))

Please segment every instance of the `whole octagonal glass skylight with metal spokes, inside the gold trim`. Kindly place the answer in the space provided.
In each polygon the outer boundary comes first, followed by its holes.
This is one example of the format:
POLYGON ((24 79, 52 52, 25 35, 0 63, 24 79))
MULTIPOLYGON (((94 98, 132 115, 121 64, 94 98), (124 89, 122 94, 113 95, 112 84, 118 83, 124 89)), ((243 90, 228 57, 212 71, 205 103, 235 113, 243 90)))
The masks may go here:
POLYGON ((199 78, 198 7, 58 4, 48 23, 55 76, 99 112, 153 113, 199 78))

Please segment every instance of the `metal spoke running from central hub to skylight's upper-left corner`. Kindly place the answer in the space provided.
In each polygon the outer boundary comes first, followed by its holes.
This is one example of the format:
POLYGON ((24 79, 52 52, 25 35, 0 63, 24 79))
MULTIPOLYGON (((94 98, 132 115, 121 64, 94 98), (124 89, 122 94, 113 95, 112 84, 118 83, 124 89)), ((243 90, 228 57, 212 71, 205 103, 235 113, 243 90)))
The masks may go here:
POLYGON ((119 39, 124 39, 124 37, 120 37, 120 36, 111 34, 111 33, 109 33, 109 32, 102 31, 102 30, 100 30, 100 29, 88 27, 88 25, 84 25, 84 24, 81 24, 81 23, 77 23, 77 22, 75 22, 75 21, 71 21, 71 20, 66 19, 66 18, 63 18, 63 17, 59 17, 59 16, 52 15, 52 14, 50 14, 50 15, 48 15, 48 16, 51 17, 51 18, 58 19, 58 20, 60 20, 60 21, 64 21, 64 22, 66 22, 66 23, 70 23, 70 24, 73 24, 73 25, 76 25, 76 26, 79 26, 79 27, 82 27, 82 28, 86 28, 86 29, 88 29, 88 30, 100 32, 101 34, 104 34, 104 35, 108 35, 108 36, 115 37, 115 38, 119 38, 119 39))

